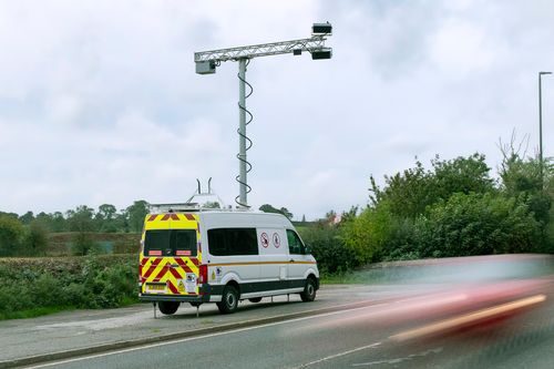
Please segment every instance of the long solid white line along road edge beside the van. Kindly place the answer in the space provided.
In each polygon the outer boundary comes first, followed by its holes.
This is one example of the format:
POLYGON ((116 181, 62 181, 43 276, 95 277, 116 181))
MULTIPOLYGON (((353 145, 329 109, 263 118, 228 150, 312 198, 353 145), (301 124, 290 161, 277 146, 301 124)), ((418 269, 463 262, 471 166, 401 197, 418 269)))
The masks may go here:
POLYGON ((319 315, 315 315, 315 316, 310 316, 310 317, 295 318, 295 319, 289 319, 289 320, 284 320, 284 321, 268 322, 268 324, 260 325, 260 326, 238 328, 238 329, 222 331, 222 332, 217 332, 217 334, 209 334, 209 335, 203 335, 203 336, 197 336, 197 337, 182 338, 182 339, 176 339, 176 340, 171 340, 171 341, 165 341, 165 342, 160 342, 160 344, 148 344, 148 345, 132 347, 132 348, 127 348, 127 349, 121 349, 121 350, 115 350, 115 351, 82 356, 82 357, 78 357, 78 358, 73 358, 73 359, 58 360, 58 361, 41 363, 38 366, 31 366, 31 367, 27 367, 27 368, 29 368, 29 369, 48 368, 48 367, 59 366, 59 365, 63 365, 63 363, 102 358, 102 357, 106 357, 106 356, 132 352, 132 351, 136 351, 136 350, 144 350, 144 349, 161 347, 161 346, 165 346, 165 345, 181 344, 181 342, 193 341, 193 340, 198 340, 198 339, 204 339, 204 338, 212 338, 212 337, 217 337, 217 336, 223 336, 223 335, 230 335, 230 334, 237 334, 237 332, 243 332, 243 331, 248 331, 248 330, 254 330, 254 329, 259 329, 259 328, 273 327, 273 326, 284 325, 284 324, 288 324, 288 322, 328 317, 328 316, 339 315, 339 314, 348 314, 348 312, 356 311, 356 310, 362 310, 362 309, 367 309, 367 308, 371 308, 371 307, 376 307, 376 306, 389 305, 389 304, 390 303, 382 303, 382 304, 376 304, 376 305, 353 308, 353 309, 349 309, 349 310, 331 311, 331 312, 319 314, 319 315))

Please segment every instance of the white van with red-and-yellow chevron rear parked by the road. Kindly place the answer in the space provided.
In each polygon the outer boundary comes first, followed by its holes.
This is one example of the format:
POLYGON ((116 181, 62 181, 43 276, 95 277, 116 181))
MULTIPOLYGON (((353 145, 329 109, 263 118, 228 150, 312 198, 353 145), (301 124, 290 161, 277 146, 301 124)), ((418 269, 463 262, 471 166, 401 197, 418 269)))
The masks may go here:
POLYGON ((229 314, 238 301, 319 288, 316 259, 280 214, 172 211, 148 214, 140 255, 140 299, 174 314, 181 303, 216 303, 229 314))

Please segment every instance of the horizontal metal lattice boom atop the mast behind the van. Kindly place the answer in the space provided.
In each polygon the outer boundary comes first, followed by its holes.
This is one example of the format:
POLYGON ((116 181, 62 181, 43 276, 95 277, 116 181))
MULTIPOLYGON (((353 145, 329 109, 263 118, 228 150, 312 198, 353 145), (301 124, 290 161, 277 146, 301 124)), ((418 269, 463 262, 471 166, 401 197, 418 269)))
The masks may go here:
POLYGON ((229 60, 236 61, 239 59, 252 59, 256 57, 287 54, 294 52, 295 50, 312 52, 324 49, 325 40, 326 38, 324 35, 314 35, 309 39, 301 39, 301 40, 291 40, 291 41, 254 44, 249 47, 202 51, 194 53, 194 61, 195 62, 203 62, 203 61, 223 62, 229 60))

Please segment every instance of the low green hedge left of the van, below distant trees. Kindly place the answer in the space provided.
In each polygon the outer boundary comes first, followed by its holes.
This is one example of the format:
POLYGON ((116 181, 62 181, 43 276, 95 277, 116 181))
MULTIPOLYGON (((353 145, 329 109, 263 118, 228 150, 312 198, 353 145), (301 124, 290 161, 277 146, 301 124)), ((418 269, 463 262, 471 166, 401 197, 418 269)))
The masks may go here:
POLYGON ((136 301, 137 258, 0 259, 0 318, 43 308, 112 308, 136 301))

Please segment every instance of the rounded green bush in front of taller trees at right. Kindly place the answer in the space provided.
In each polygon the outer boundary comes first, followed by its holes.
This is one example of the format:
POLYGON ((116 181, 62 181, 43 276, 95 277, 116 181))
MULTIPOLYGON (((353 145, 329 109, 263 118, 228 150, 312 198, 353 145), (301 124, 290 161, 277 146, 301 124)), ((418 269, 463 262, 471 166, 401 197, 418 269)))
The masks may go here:
POLYGON ((416 227, 423 257, 532 253, 540 236, 529 206, 491 193, 454 194, 434 204, 416 227))

